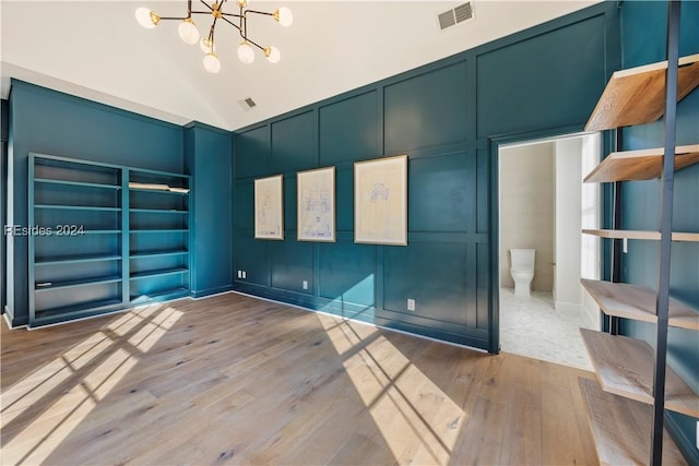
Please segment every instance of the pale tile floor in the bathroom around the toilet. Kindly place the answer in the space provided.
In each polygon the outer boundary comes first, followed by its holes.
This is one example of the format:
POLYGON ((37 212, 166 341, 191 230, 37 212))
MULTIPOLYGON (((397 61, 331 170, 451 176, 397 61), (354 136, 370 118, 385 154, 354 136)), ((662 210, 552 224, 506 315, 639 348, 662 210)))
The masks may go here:
POLYGON ((532 291, 514 297, 500 288, 500 347, 502 351, 593 370, 580 327, 591 328, 582 315, 556 312, 550 292, 532 291))

